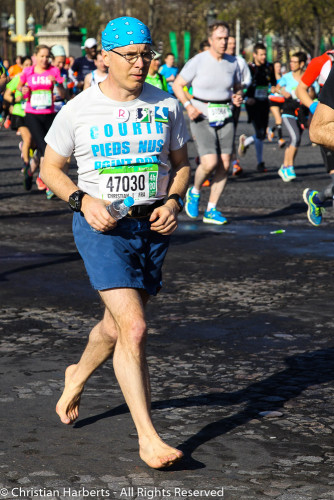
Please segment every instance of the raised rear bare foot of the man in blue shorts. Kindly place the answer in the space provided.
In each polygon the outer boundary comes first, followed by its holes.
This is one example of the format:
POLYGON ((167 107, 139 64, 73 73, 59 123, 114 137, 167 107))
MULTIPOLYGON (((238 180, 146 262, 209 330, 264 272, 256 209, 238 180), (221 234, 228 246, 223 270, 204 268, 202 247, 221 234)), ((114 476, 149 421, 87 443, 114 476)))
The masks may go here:
POLYGON ((79 416, 80 398, 84 388, 71 383, 76 366, 70 365, 66 368, 64 391, 56 406, 56 412, 63 424, 72 424, 79 416))

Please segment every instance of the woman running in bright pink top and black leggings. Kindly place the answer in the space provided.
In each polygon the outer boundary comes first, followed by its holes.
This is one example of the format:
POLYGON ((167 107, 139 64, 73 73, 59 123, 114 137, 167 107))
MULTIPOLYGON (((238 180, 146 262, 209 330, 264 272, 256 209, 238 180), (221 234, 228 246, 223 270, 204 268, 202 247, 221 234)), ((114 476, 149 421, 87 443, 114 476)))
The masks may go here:
MULTIPOLYGON (((39 45, 35 49, 36 64, 27 68, 20 75, 22 94, 27 97, 26 125, 34 139, 37 147, 30 166, 25 168, 24 185, 27 190, 32 187, 33 174, 43 161, 46 142, 44 137, 52 125, 56 116, 54 109, 53 88, 58 86, 59 95, 65 96, 63 78, 60 76, 59 68, 50 64, 50 49, 47 45, 39 45)), ((51 199, 54 195, 42 179, 38 176, 36 184, 39 190, 46 190, 46 196, 51 199)))

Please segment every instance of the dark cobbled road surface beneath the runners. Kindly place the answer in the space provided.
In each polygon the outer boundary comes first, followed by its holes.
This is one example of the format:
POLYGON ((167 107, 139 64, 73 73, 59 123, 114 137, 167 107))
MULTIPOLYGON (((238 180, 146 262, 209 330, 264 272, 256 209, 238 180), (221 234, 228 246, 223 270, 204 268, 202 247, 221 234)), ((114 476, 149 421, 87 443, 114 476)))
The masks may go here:
MULTIPOLYGON (((242 114, 238 132, 250 130, 242 114)), ((54 412, 102 307, 66 205, 24 191, 18 142, 0 131, 0 498, 334 498, 334 213, 307 221, 303 189, 328 182, 307 133, 295 182, 266 142, 268 172, 250 148, 227 185, 227 226, 180 216, 148 305, 153 419, 185 453, 165 471, 138 456, 111 362, 73 426, 54 412)), ((195 156, 191 143, 194 168, 195 156)))

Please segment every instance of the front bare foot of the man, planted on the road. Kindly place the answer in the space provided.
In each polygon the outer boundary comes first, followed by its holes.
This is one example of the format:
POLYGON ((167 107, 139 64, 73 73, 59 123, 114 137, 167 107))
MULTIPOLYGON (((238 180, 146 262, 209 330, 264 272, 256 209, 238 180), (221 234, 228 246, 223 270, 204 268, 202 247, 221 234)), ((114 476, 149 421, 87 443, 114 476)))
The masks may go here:
POLYGON ((158 435, 153 436, 151 439, 140 439, 139 455, 152 469, 170 467, 183 457, 181 450, 172 448, 162 441, 158 435))

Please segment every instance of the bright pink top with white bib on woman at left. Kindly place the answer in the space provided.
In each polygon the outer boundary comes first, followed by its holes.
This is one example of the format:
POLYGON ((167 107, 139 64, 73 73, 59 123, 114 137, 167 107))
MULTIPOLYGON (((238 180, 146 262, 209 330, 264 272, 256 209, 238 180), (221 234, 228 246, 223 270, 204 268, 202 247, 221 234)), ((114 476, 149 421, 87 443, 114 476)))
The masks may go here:
POLYGON ((20 75, 22 84, 29 87, 29 97, 26 104, 26 113, 35 115, 49 115, 55 112, 53 102, 54 83, 49 76, 54 76, 57 83, 63 83, 60 71, 50 66, 43 73, 35 73, 35 66, 25 68, 20 75))

